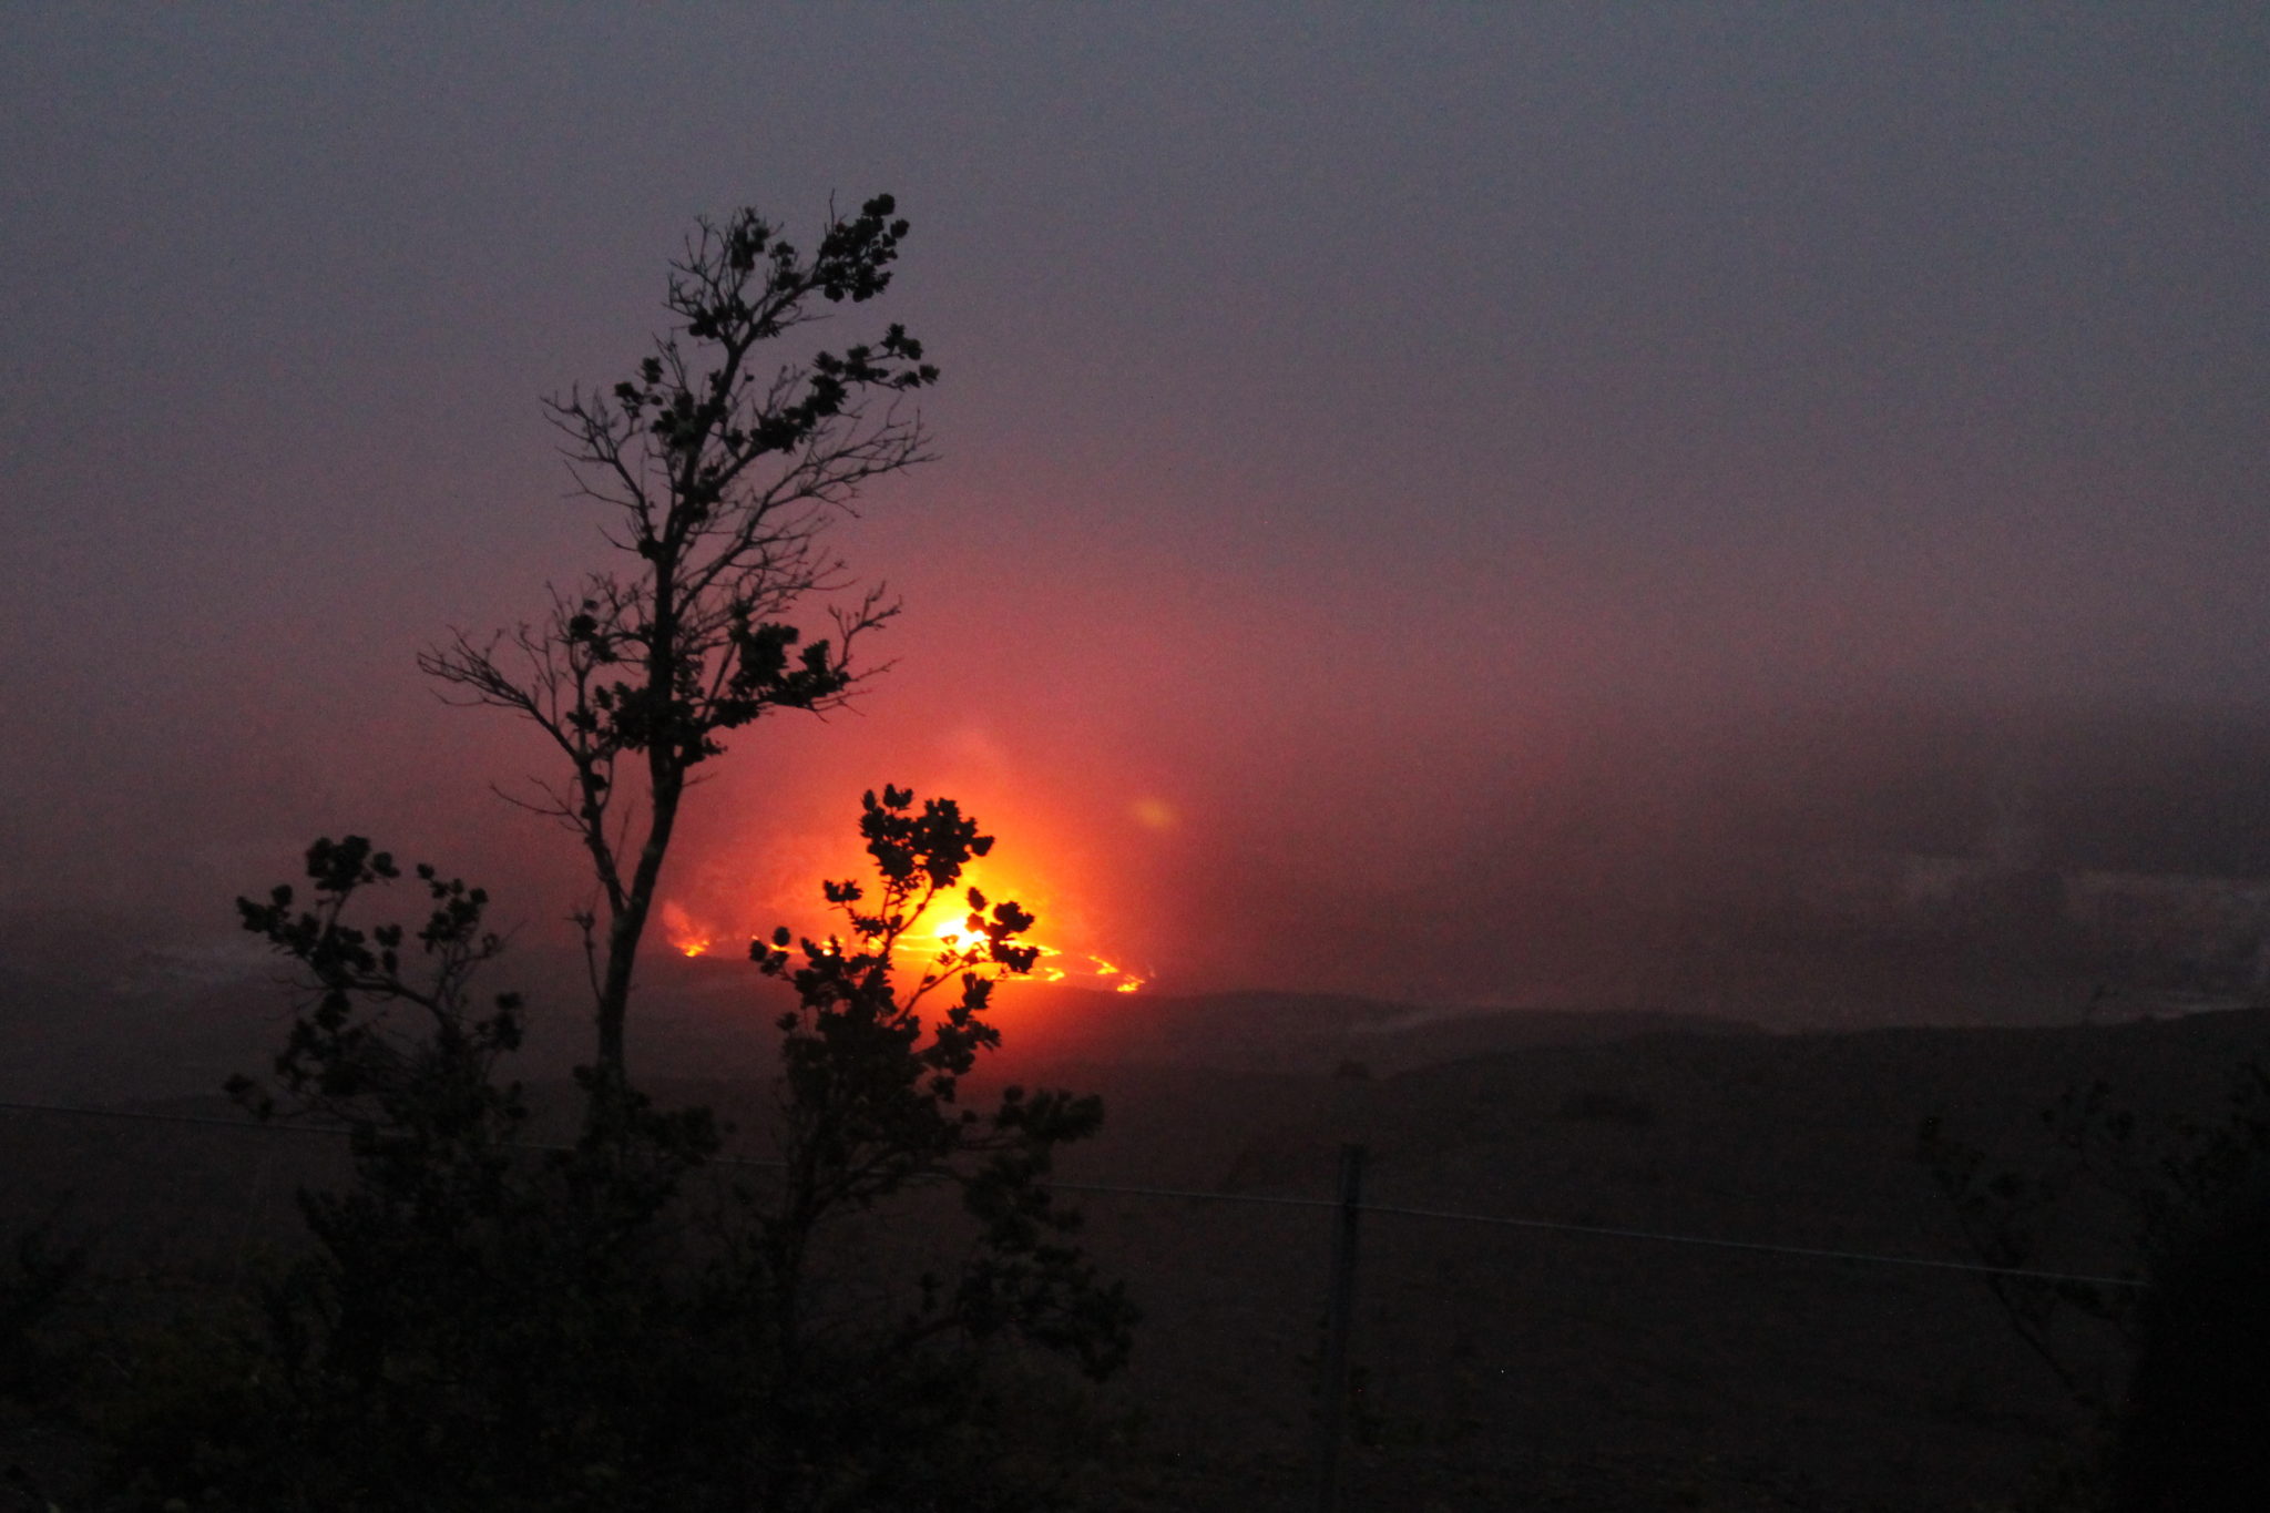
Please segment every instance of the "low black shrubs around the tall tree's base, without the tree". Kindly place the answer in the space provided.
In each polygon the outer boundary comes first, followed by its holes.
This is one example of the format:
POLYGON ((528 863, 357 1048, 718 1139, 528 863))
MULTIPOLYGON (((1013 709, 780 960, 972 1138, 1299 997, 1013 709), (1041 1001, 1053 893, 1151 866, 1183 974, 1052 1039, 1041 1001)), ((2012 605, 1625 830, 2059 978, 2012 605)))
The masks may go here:
POLYGON ((776 1025, 783 1164, 722 1191, 706 1109, 633 1091, 604 1132, 524 1139, 529 1102, 502 1080, 520 1000, 472 991, 502 948, 481 889, 418 867, 418 930, 356 923, 404 878, 347 837, 309 848, 304 903, 241 901, 309 998, 270 1084, 236 1096, 345 1125, 354 1175, 302 1193, 316 1245, 250 1322, 145 1352, 111 1413, 129 1461, 161 1490, 259 1508, 1062 1504, 1081 1443, 1022 1427, 1076 1397, 1042 1361, 1108 1377, 1133 1327, 1046 1184, 1101 1102, 969 1102, 1001 1039, 994 978, 1035 955, 1031 914, 965 891, 976 944, 901 966, 906 930, 992 839, 892 787, 860 830, 874 882, 826 885, 844 932, 804 941, 799 966, 785 932, 751 948, 797 994, 776 1025), (926 1189, 960 1220, 924 1211, 926 1189), (917 1225, 919 1275, 835 1236, 885 1202, 917 1225))

